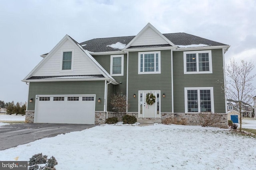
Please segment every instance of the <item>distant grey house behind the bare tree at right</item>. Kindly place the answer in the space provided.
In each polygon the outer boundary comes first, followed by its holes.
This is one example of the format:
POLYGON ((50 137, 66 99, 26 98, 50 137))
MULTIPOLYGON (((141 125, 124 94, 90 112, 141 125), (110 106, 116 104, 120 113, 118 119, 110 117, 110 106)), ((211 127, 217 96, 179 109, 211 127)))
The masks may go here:
MULTIPOLYGON (((253 110, 253 106, 251 106, 250 104, 247 104, 245 102, 241 102, 241 106, 242 106, 242 117, 252 117, 252 110, 253 110)), ((232 99, 227 99, 227 109, 228 111, 240 111, 239 110, 239 102, 232 100, 232 99)))

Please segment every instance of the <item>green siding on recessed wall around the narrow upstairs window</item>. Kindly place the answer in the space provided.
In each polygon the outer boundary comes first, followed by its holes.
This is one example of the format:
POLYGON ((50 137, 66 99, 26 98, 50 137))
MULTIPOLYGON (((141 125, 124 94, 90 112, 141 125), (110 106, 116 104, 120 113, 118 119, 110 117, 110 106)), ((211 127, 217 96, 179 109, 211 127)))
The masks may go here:
MULTIPOLYGON (((94 59, 110 74, 110 55, 96 55, 94 59)), ((124 75, 112 76, 119 84, 114 86, 114 93, 122 92, 126 94, 126 68, 127 54, 124 54, 124 75)))

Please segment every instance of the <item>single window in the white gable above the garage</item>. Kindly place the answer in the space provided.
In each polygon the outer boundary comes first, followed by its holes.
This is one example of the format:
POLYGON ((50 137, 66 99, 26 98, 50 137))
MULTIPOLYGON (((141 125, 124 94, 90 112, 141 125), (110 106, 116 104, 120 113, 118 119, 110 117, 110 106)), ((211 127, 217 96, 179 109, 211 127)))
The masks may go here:
POLYGON ((62 71, 72 71, 74 64, 74 50, 62 51, 62 71))

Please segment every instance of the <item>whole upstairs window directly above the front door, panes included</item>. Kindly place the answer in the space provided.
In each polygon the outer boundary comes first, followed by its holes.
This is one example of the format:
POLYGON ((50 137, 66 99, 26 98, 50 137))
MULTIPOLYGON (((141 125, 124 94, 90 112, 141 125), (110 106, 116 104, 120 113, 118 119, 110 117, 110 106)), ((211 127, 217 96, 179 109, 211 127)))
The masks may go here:
POLYGON ((160 74, 160 51, 140 52, 138 56, 138 74, 160 74))

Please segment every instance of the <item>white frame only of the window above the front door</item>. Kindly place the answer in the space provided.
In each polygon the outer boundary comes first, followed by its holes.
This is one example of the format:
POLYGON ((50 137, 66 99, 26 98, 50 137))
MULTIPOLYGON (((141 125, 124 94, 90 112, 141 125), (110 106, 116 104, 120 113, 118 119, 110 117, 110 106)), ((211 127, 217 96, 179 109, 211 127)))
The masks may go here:
POLYGON ((148 51, 148 52, 139 52, 138 53, 138 74, 161 74, 161 51, 148 51), (143 55, 143 71, 140 71, 140 55, 143 55), (145 54, 155 54, 155 67, 156 67, 156 54, 158 54, 158 71, 153 72, 144 72, 144 55, 145 54))

